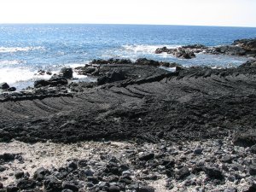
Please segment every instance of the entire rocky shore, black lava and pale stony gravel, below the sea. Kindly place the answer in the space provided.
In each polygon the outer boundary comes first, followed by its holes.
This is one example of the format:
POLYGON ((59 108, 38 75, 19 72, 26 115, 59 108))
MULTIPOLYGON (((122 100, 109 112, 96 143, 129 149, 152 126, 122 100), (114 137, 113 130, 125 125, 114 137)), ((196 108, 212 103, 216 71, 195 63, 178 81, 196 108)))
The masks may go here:
POLYGON ((247 62, 100 59, 25 90, 1 84, 0 191, 256 191, 256 39, 162 53, 247 62))

